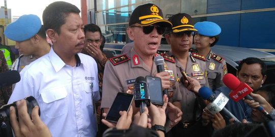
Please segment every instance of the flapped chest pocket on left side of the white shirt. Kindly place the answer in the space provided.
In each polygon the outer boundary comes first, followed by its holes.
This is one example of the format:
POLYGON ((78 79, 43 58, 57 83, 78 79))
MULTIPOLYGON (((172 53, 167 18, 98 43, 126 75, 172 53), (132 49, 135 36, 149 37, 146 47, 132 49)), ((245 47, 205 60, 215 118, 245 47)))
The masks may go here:
POLYGON ((48 118, 56 118, 68 113, 68 97, 65 87, 52 88, 41 92, 42 111, 48 118))

